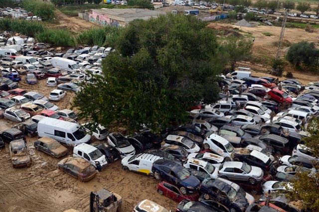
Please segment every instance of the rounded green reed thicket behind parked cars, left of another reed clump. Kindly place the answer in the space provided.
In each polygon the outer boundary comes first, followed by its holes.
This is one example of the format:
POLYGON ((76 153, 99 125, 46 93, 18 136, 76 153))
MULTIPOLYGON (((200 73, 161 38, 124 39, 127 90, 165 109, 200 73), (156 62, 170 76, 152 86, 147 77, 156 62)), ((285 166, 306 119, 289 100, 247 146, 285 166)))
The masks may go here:
POLYGON ((36 38, 39 42, 48 43, 53 46, 76 46, 75 38, 67 30, 48 29, 38 33, 36 38))

